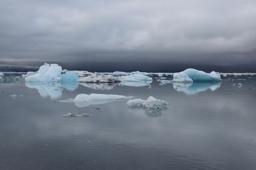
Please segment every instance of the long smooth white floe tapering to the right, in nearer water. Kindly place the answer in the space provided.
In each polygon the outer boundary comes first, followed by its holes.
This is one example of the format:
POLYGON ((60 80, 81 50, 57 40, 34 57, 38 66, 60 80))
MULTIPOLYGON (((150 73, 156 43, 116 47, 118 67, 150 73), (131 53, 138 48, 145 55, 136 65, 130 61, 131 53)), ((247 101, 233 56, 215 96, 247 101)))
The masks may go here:
POLYGON ((93 104, 104 104, 113 101, 124 101, 131 98, 132 97, 114 94, 78 94, 74 99, 74 104, 79 108, 83 108, 93 104))

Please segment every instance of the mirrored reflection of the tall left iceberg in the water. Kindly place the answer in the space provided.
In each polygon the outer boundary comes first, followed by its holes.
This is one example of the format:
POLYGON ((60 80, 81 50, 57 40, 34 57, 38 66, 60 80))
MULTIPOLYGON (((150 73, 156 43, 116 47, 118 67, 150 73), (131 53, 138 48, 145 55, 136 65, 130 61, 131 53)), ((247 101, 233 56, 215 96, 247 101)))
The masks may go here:
POLYGON ((51 97, 51 99, 58 99, 62 96, 63 89, 66 90, 76 90, 78 87, 77 82, 51 82, 51 83, 42 83, 42 82, 29 82, 26 81, 26 87, 29 89, 38 90, 40 96, 42 97, 51 97))

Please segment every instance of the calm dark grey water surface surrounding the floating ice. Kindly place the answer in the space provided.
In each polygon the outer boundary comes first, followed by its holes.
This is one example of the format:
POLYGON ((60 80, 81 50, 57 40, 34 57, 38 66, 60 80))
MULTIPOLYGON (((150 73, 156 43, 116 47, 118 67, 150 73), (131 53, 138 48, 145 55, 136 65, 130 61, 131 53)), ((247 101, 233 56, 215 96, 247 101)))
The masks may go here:
POLYGON ((40 93, 24 82, 0 83, 0 169, 256 169, 250 77, 176 89, 158 81, 150 88, 100 87, 108 90, 35 85, 40 93), (127 101, 84 108, 56 102, 82 93, 154 96, 169 104, 148 113, 127 101), (61 116, 68 112, 92 116, 61 116))

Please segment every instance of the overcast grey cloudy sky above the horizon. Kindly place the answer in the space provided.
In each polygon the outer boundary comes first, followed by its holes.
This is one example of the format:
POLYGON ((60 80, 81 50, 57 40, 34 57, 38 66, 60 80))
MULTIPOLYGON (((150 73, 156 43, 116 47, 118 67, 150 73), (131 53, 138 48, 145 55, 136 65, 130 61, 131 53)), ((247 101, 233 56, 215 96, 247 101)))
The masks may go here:
POLYGON ((255 9, 255 0, 0 0, 0 63, 253 69, 255 9))

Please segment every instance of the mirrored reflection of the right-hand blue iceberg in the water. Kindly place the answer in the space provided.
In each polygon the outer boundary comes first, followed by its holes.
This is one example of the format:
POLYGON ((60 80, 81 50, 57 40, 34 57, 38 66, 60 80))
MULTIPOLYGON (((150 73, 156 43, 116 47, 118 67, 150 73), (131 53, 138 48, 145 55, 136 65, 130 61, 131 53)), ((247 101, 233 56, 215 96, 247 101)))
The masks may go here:
POLYGON ((204 92, 210 89, 214 91, 219 89, 221 81, 217 82, 193 82, 193 83, 173 83, 173 88, 177 92, 184 92, 186 94, 197 94, 198 92, 204 92))

